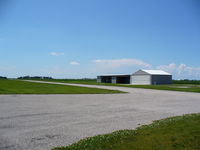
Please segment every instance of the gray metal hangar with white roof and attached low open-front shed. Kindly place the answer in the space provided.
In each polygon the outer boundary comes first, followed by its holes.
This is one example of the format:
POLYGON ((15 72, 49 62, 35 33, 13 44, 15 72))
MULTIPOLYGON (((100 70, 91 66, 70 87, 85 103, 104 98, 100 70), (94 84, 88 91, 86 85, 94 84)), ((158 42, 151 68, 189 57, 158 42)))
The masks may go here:
POLYGON ((172 75, 162 70, 138 70, 133 74, 97 76, 99 83, 120 83, 134 85, 171 84, 172 75))

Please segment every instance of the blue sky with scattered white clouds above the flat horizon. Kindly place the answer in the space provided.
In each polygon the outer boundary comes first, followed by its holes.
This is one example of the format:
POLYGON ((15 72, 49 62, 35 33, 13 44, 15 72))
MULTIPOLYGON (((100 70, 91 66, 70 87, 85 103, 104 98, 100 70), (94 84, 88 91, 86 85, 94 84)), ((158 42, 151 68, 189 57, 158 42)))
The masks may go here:
POLYGON ((138 69, 200 79, 199 0, 0 0, 0 76, 138 69))

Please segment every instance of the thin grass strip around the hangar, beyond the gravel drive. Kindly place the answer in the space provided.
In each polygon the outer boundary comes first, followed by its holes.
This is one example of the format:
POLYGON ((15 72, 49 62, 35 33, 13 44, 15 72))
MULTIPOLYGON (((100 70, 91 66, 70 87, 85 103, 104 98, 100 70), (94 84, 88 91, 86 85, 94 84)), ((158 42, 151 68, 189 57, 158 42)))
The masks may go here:
POLYGON ((123 86, 123 87, 131 87, 131 88, 145 88, 145 89, 155 89, 155 90, 170 90, 170 91, 200 93, 199 81, 174 80, 173 84, 169 84, 169 85, 128 85, 128 84, 97 83, 96 80, 94 79, 93 80, 90 80, 90 79, 86 79, 86 80, 84 79, 50 79, 50 80, 45 80, 45 81, 75 83, 75 84, 123 86))

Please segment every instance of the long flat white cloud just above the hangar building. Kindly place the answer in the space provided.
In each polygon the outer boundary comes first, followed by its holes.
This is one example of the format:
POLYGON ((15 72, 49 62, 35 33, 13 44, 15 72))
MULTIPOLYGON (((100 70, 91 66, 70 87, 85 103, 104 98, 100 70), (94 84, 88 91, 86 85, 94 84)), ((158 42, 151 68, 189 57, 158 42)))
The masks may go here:
POLYGON ((96 65, 105 67, 105 68, 120 68, 120 67, 130 67, 130 66, 140 66, 149 68, 151 65, 143 62, 142 60, 138 59, 97 59, 93 60, 96 65))

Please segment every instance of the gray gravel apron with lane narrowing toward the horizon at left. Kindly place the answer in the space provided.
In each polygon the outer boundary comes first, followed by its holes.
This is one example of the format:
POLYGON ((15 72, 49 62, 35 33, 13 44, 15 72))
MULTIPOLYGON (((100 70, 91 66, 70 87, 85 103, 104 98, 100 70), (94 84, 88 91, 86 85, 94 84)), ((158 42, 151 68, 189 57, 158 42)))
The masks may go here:
POLYGON ((199 93, 103 87, 129 93, 0 95, 0 150, 48 150, 152 120, 200 112, 199 93))

